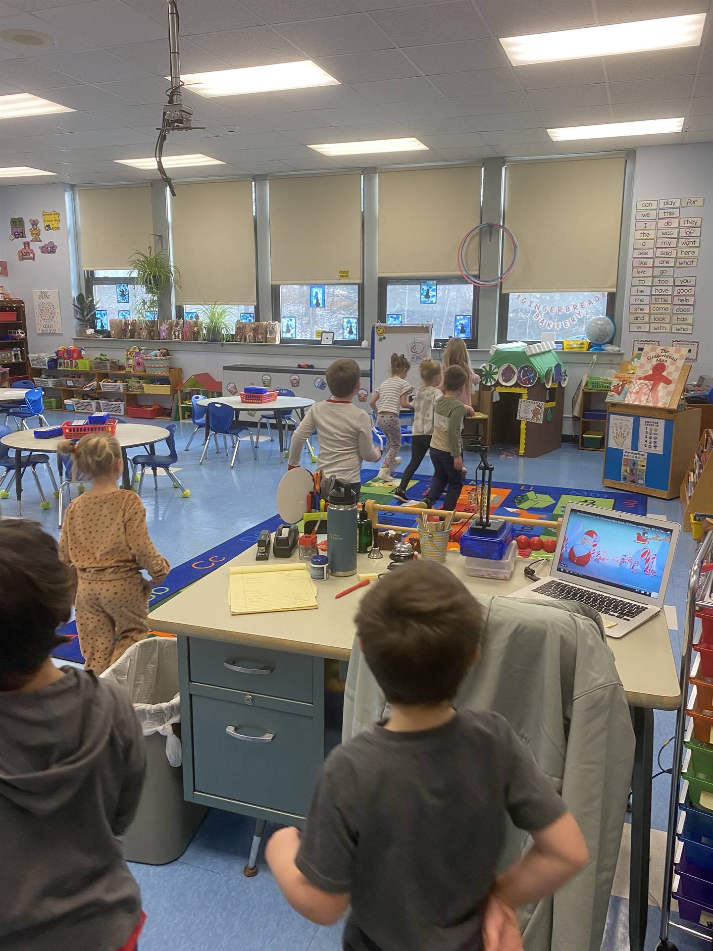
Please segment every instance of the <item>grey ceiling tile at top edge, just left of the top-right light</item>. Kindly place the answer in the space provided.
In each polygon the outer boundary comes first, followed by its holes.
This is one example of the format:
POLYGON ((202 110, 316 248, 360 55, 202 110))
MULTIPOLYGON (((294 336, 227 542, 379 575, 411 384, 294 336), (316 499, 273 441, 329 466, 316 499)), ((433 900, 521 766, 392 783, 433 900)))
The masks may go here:
POLYGON ((488 29, 468 0, 406 10, 376 10, 372 16, 398 47, 479 40, 488 36, 488 29))

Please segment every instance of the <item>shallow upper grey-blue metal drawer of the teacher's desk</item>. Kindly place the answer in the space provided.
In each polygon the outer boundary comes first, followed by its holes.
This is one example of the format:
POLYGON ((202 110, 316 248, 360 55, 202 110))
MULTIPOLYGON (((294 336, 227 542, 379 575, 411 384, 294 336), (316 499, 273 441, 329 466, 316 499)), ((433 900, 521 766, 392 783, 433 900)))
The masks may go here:
POLYGON ((189 647, 193 683, 312 703, 312 657, 196 637, 189 647))

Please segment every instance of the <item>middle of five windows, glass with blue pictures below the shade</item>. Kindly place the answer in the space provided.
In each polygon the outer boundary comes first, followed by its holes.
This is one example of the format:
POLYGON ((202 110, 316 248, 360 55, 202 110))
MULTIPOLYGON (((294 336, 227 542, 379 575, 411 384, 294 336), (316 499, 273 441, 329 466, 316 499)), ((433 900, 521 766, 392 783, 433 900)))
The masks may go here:
POLYGON ((361 342, 359 284, 276 284, 274 293, 283 342, 318 340, 322 330, 335 342, 361 342))

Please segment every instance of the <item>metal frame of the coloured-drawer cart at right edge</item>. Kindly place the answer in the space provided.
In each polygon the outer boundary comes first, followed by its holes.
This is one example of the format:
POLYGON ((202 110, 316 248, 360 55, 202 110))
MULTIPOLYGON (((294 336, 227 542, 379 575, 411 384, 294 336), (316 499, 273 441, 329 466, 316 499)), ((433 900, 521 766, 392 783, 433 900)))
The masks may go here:
MULTIPOLYGON (((709 532, 703 544, 696 553, 688 575, 688 593, 685 601, 684 620, 684 649, 681 657, 679 673, 679 687, 681 689, 681 706, 676 713, 676 733, 674 735, 673 765, 671 767, 671 796, 668 802, 668 826, 666 830, 666 857, 664 867, 664 894, 661 900, 661 931, 660 941, 656 951, 678 951, 675 944, 668 940, 669 927, 679 928, 688 934, 696 935, 703 941, 711 942, 713 947, 713 931, 698 930, 687 924, 671 921, 671 886, 673 883, 673 853, 676 845, 676 827, 679 805, 679 776, 681 774, 682 754, 684 749, 685 708, 688 702, 688 673, 691 668, 691 652, 693 650, 693 628, 696 623, 696 593, 701 580, 703 564, 713 557, 713 532, 709 532)), ((643 884, 642 887, 645 887, 643 884)))

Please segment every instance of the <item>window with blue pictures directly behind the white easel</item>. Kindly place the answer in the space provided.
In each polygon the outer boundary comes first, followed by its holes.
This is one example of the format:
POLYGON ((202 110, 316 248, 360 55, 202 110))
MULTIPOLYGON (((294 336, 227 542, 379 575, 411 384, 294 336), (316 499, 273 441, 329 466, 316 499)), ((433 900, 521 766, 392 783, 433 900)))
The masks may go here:
POLYGON ((383 323, 433 323, 435 340, 462 337, 477 341, 475 288, 469 281, 385 281, 383 323))

